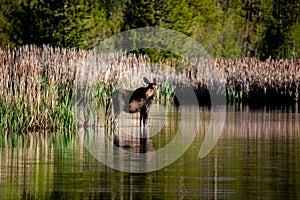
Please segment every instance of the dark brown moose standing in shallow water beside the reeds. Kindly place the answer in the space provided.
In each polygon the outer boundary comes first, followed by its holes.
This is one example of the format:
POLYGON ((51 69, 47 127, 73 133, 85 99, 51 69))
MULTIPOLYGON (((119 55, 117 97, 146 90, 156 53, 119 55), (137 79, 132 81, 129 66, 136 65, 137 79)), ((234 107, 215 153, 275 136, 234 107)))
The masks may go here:
POLYGON ((140 126, 146 127, 148 122, 148 114, 151 105, 156 97, 156 89, 158 84, 156 79, 150 82, 146 77, 144 82, 148 84, 147 87, 140 87, 134 91, 118 89, 112 94, 114 116, 118 117, 122 111, 127 113, 140 113, 140 126))

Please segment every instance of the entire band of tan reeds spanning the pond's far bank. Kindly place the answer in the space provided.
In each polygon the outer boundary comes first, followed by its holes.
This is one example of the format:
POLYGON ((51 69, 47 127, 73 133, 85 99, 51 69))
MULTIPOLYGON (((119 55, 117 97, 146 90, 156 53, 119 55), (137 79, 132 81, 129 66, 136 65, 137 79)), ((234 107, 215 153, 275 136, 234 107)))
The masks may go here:
POLYGON ((5 132, 74 130, 74 99, 106 107, 116 88, 141 87, 144 76, 158 80, 158 99, 163 102, 172 100, 174 94, 184 95, 188 85, 194 88, 199 102, 205 103, 210 102, 211 93, 226 97, 230 103, 299 99, 299 60, 151 63, 147 56, 126 52, 30 45, 0 49, 0 59, 0 130, 5 132))

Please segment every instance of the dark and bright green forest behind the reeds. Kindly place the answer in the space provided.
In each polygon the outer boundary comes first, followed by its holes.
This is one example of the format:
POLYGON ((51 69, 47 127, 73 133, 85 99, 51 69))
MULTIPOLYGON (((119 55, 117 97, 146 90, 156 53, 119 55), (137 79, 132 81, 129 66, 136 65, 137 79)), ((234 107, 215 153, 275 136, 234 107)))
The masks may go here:
POLYGON ((0 46, 92 49, 129 29, 159 26, 215 58, 297 59, 296 0, 0 0, 0 46))

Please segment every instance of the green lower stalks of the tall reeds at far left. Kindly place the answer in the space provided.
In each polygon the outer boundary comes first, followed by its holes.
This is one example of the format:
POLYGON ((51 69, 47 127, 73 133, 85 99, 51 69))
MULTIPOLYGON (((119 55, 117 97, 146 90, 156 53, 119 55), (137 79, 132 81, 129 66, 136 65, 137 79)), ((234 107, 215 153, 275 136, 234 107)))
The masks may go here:
MULTIPOLYGON (((45 84, 46 87, 41 89, 43 95, 54 95, 59 92, 57 86, 45 84)), ((36 103, 33 107, 28 103, 29 95, 25 97, 25 101, 19 95, 11 100, 3 96, 0 101, 0 130, 11 133, 33 130, 60 132, 75 130, 70 87, 68 85, 67 88, 60 89, 61 98, 55 101, 51 108, 45 96, 42 96, 40 105, 36 103)))

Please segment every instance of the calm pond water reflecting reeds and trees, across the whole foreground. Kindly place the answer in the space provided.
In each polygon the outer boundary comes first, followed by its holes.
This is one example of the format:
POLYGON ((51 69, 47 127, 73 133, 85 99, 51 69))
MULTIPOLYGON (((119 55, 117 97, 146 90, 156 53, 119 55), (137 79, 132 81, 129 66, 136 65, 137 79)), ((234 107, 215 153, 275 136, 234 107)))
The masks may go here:
MULTIPOLYGON (((137 131, 137 137, 125 137, 122 131, 109 136, 112 140, 117 138, 118 146, 125 151, 153 152, 176 137, 181 112, 184 111, 165 109, 164 118, 153 112, 147 134, 162 130, 147 140, 137 139, 143 137, 134 123, 119 122, 119 126, 125 132, 137 131), (124 128, 126 125, 129 130, 124 128)), ((199 124, 192 145, 172 164, 148 173, 106 167, 74 134, 2 135, 0 199, 299 198, 297 107, 227 108, 223 132, 216 146, 202 159, 199 150, 211 112, 202 107, 195 113, 199 124)), ((83 138, 94 136, 83 133, 83 138)))

